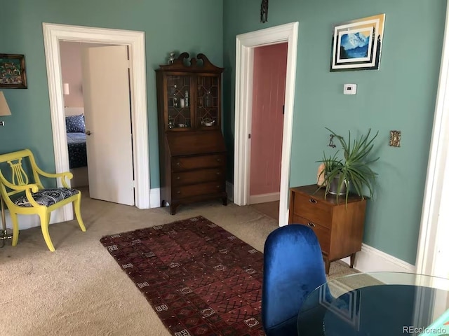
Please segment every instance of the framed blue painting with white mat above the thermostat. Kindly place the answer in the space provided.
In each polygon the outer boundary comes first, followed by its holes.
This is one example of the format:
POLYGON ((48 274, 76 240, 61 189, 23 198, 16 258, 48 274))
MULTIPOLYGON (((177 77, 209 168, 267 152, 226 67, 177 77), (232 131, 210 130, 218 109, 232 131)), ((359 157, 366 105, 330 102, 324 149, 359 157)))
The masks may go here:
POLYGON ((378 70, 385 14, 335 25, 330 71, 378 70))

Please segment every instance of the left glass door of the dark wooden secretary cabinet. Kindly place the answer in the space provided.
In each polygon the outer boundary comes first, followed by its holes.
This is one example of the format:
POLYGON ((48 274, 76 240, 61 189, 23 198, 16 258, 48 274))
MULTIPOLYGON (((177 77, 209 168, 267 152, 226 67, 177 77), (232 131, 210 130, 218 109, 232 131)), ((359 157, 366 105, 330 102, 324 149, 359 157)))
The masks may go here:
POLYGON ((190 76, 167 77, 167 128, 170 130, 189 130, 192 127, 190 76))

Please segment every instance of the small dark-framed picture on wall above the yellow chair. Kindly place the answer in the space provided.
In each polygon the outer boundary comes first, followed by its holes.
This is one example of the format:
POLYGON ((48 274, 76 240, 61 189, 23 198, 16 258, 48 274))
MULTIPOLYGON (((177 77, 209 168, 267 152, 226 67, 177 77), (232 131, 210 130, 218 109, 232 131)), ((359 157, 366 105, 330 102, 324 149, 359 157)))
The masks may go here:
POLYGON ((0 87, 26 89, 25 56, 0 54, 0 87))

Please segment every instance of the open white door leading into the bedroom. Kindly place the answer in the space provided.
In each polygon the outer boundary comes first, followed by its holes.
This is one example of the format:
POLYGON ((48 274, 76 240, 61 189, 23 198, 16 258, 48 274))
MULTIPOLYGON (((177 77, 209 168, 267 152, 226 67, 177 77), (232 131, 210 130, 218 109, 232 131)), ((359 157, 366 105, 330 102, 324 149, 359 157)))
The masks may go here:
POLYGON ((128 47, 81 53, 89 195, 134 205, 128 47))

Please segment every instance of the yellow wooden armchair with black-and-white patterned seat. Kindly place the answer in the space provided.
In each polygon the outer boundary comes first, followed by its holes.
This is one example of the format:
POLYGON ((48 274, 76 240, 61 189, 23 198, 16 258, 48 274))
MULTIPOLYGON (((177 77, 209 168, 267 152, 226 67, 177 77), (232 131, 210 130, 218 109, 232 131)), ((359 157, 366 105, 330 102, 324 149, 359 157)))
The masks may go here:
POLYGON ((66 179, 72 178, 73 174, 70 172, 59 174, 43 172, 42 169, 37 167, 34 156, 29 149, 0 155, 0 193, 6 207, 8 207, 13 223, 13 246, 17 245, 19 239, 17 215, 36 214, 41 220, 42 235, 48 249, 52 252, 55 251, 48 234, 51 211, 69 203, 73 203, 76 220, 81 231, 86 231, 81 218, 81 192, 69 188, 67 185, 66 179), (8 166, 11 170, 8 169, 8 166), (32 181, 25 171, 32 176, 32 181), (62 188, 44 188, 40 176, 61 179, 62 188))

